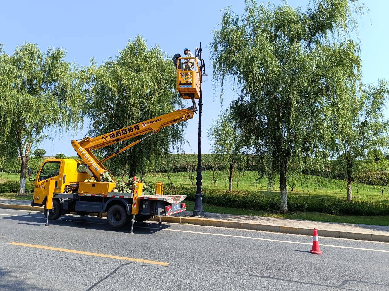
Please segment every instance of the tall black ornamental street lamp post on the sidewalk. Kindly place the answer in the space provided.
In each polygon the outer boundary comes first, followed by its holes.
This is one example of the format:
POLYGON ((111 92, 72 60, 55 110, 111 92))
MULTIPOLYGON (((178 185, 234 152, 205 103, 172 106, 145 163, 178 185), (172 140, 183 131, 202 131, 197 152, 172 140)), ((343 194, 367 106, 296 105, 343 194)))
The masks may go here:
MULTIPOLYGON (((207 76, 205 73, 205 64, 204 60, 201 58, 202 53, 201 42, 200 49, 198 50, 198 58, 201 62, 200 67, 200 99, 198 100, 198 157, 197 157, 197 175, 196 175, 196 194, 195 194, 195 209, 193 210, 192 217, 205 217, 203 210, 203 193, 202 193, 202 185, 203 185, 203 176, 202 176, 202 166, 201 166, 201 114, 203 108, 203 99, 202 99, 202 83, 203 83, 203 74, 207 76)), ((204 80, 205 81, 205 80, 204 80)))

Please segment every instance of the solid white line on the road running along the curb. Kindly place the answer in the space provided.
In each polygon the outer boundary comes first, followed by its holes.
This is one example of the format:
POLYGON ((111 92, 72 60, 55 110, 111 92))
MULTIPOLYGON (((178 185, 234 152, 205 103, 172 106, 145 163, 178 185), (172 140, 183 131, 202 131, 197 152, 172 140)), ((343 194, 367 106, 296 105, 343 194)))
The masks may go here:
MULTIPOLYGON (((9 215, 9 216, 21 216, 17 214, 5 214, 5 213, 0 213, 0 215, 9 215)), ((40 219, 46 219, 45 217, 37 217, 37 216, 32 216, 32 215, 23 215, 23 217, 33 217, 33 218, 40 218, 40 219)), ((102 224, 102 225, 107 225, 107 223, 100 223, 100 222, 88 222, 88 221, 79 221, 79 220, 68 220, 68 219, 63 219, 60 218, 58 220, 63 220, 63 221, 72 221, 72 222, 84 222, 84 223, 92 223, 92 224, 102 224)), ((299 241, 283 241, 279 239, 264 239, 261 237, 250 237, 250 236, 234 236, 232 234, 215 234, 215 233, 210 233, 210 232, 199 232, 199 231, 191 231, 191 230, 179 230, 179 229, 169 229, 169 228, 158 228, 158 227, 144 227, 144 226, 136 226, 137 228, 141 229, 155 229, 155 230, 168 230, 168 231, 176 231, 176 232, 186 232, 186 233, 192 233, 192 234, 205 234, 205 235, 210 235, 210 236, 224 236, 224 237, 236 237, 236 238, 241 238, 241 239, 254 239, 258 241, 275 241, 275 242, 285 242, 289 244, 312 244, 311 242, 299 242, 299 241)), ((389 251, 386 251, 384 249, 367 249, 367 248, 356 248, 352 246, 335 246, 332 244, 320 244, 320 246, 329 246, 331 248, 345 248, 345 249, 360 249, 363 251, 378 251, 378 252, 383 252, 383 253, 389 253, 389 251)))

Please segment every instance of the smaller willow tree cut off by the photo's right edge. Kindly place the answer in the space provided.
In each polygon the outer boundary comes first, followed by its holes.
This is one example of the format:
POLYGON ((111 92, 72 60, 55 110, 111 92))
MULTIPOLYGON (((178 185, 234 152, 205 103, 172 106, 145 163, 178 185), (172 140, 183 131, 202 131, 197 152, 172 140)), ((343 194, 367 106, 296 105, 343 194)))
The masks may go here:
MULTIPOLYGON (((348 114, 333 115, 331 128, 336 138, 333 151, 338 155, 337 166, 346 180, 347 200, 352 200, 351 182, 358 168, 356 161, 366 157, 378 161, 378 148, 387 147, 389 122, 385 120, 385 105, 389 84, 380 80, 367 84, 360 94, 350 96, 348 114), (373 156, 373 157, 372 157, 373 156)), ((381 154, 382 155, 382 154, 381 154)))

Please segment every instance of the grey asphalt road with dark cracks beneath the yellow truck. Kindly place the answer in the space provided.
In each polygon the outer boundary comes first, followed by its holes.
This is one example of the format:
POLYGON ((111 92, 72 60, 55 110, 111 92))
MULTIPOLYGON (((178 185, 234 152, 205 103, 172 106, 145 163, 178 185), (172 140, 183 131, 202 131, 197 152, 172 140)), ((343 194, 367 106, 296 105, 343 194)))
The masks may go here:
POLYGON ((310 236, 168 223, 128 234, 77 215, 45 222, 0 209, 0 290, 389 289, 387 243, 319 232, 323 254, 313 255, 310 236))

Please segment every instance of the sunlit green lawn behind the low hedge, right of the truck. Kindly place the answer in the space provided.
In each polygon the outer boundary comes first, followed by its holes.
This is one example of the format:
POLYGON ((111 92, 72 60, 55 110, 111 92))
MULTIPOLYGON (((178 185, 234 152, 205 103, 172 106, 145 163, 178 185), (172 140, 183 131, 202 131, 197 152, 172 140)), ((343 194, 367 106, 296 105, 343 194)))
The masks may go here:
MULTIPOLYGON (((217 180, 216 185, 211 182, 212 180, 212 172, 211 171, 203 171, 203 189, 220 189, 220 190, 228 190, 228 177, 226 179, 219 178, 217 180)), ((236 175, 235 175, 236 177, 236 175)), ((321 198, 335 198, 335 199, 346 199, 347 192, 345 187, 345 181, 343 180, 323 180, 322 177, 313 177, 309 179, 308 176, 303 176, 306 180, 303 181, 303 185, 301 182, 296 185, 294 191, 290 191, 290 187, 288 186, 288 195, 296 196, 301 199, 321 199, 321 198), (302 187, 303 186, 303 187, 302 187)), ((236 179, 234 179, 233 191, 249 191, 249 192, 258 192, 267 197, 275 197, 280 195, 280 186, 279 180, 275 180, 274 190, 267 191, 266 186, 268 180, 263 178, 261 181, 254 182, 258 178, 257 172, 248 171, 245 172, 242 177, 239 179, 239 184, 237 185, 236 179)), ((170 180, 168 180, 168 176, 166 173, 151 173, 147 174, 146 182, 173 182, 177 185, 184 185, 187 187, 196 188, 196 180, 191 185, 189 181, 188 174, 186 172, 180 173, 171 173, 170 180)), ((352 184, 352 198, 353 200, 359 201, 375 201, 381 203, 389 203, 389 195, 387 192, 384 192, 384 196, 382 196, 380 189, 375 186, 370 185, 358 185, 358 192, 356 189, 356 184, 352 184)))

